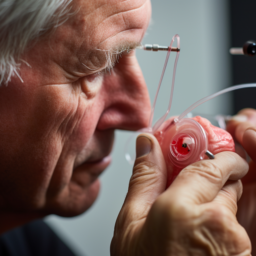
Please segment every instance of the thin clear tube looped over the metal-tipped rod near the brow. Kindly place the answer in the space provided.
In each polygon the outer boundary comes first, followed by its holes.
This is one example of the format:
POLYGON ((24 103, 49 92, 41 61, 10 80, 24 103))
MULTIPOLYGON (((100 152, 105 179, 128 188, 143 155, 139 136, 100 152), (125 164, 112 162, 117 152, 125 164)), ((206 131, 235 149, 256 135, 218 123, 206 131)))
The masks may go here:
POLYGON ((158 84, 158 87, 157 87, 155 99, 154 99, 154 102, 153 102, 153 105, 152 105, 152 109, 151 109, 150 119, 149 119, 149 123, 148 123, 148 127, 147 128, 148 128, 148 131, 152 132, 152 133, 154 133, 159 128, 159 126, 164 122, 166 116, 168 115, 168 113, 170 111, 171 105, 172 105, 175 73, 176 73, 177 62, 178 62, 178 59, 179 59, 179 51, 177 51, 176 59, 175 59, 175 62, 174 62, 172 88, 171 88, 171 95, 170 95, 168 109, 167 109, 166 113, 161 118, 158 119, 158 121, 155 123, 154 127, 152 128, 152 122, 153 122, 154 111, 155 111, 155 106, 156 106, 156 101, 157 101, 158 93, 159 93, 159 90, 160 90, 160 87, 161 87, 161 84, 162 84, 162 81, 163 81, 165 69, 166 69, 166 66, 167 66, 167 63, 168 63, 168 60, 169 60, 170 52, 171 52, 172 45, 173 45, 173 42, 174 42, 175 38, 177 38, 177 47, 180 48, 179 35, 176 34, 173 37, 173 39, 172 39, 172 41, 170 43, 170 46, 169 46, 169 49, 168 49, 168 52, 167 52, 167 56, 166 56, 166 59, 165 59, 162 75, 161 75, 161 78, 160 78, 160 81, 159 81, 159 84, 158 84))

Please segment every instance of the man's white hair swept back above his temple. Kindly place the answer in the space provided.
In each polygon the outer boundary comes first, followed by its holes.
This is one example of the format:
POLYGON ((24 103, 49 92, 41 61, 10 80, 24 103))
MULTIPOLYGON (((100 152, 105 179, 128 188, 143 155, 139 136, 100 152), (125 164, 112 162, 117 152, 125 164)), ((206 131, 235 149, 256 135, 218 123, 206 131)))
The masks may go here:
MULTIPOLYGON (((0 85, 19 76, 20 55, 29 42, 46 30, 63 24, 72 0, 0 0, 0 85)), ((78 11, 78 10, 77 10, 78 11)))

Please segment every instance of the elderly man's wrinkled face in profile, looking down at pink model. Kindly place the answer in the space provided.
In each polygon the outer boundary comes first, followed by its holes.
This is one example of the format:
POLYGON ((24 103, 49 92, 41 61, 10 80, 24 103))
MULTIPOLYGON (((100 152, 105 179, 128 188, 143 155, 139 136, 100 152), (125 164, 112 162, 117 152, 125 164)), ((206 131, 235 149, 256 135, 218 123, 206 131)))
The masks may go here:
POLYGON ((0 88, 2 209, 82 213, 110 163, 114 129, 147 125, 150 101, 134 51, 111 75, 105 68, 111 53, 142 40, 150 1, 72 5, 79 12, 22 56, 31 65, 20 66, 24 83, 12 78, 0 88))

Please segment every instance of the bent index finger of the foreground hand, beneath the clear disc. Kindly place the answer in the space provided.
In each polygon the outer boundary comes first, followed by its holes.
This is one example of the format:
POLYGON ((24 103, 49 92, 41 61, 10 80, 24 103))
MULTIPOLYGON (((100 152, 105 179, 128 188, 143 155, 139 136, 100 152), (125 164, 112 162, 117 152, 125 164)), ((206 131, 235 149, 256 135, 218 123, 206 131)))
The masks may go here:
POLYGON ((215 159, 198 161, 184 168, 163 196, 180 202, 212 201, 228 179, 239 180, 248 172, 247 162, 234 152, 221 152, 215 159))

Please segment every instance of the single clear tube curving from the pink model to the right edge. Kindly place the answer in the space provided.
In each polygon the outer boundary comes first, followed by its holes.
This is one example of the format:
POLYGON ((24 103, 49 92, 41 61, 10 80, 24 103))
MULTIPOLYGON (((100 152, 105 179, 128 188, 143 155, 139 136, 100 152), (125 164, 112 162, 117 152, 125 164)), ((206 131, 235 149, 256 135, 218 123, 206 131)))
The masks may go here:
POLYGON ((180 121, 180 119, 182 119, 186 114, 188 114, 191 110, 193 110, 194 108, 196 108, 197 106, 201 105, 202 103, 211 100, 223 93, 226 92, 231 92, 234 90, 238 90, 238 89, 242 89, 242 88, 250 88, 250 87, 256 87, 256 83, 243 83, 243 84, 238 84, 235 86, 230 86, 228 88, 225 88, 223 90, 220 90, 218 92, 215 92, 207 97, 202 98, 201 100, 197 101, 196 103, 194 103, 193 105, 191 105, 188 109, 186 109, 178 118, 175 118, 175 122, 180 121))

